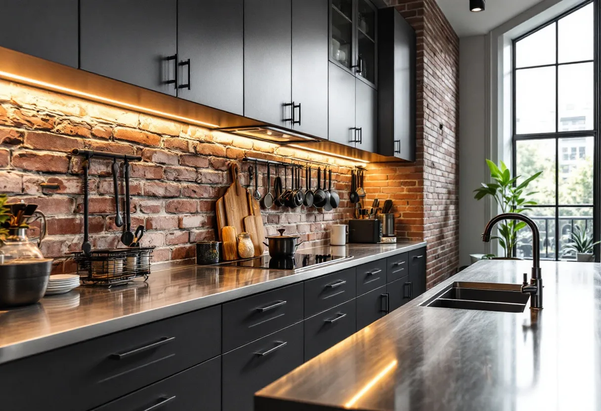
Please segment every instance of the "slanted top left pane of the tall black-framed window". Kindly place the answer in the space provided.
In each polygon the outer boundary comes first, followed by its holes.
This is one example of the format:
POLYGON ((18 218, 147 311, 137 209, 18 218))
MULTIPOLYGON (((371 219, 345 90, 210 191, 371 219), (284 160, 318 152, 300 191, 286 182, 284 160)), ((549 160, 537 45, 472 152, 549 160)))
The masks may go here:
POLYGON ((555 23, 516 42, 516 67, 555 64, 555 23))

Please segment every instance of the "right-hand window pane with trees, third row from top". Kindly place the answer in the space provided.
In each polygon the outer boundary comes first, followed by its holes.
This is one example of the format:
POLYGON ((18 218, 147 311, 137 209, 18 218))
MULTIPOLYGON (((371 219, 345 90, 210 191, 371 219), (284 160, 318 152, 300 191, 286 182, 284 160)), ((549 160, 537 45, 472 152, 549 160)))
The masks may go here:
POLYGON ((560 158, 560 204, 593 204, 593 137, 561 138, 558 144, 570 152, 560 158))

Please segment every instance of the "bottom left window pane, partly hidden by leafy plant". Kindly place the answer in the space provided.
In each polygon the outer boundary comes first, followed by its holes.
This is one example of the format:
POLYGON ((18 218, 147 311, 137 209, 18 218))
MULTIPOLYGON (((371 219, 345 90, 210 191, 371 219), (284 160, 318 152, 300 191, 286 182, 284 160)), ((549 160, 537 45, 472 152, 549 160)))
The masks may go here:
MULTIPOLYGON (((540 258, 555 260, 555 208, 534 207, 524 214, 538 227, 540 258)), ((528 227, 517 232, 516 257, 532 258, 532 231, 528 227)))

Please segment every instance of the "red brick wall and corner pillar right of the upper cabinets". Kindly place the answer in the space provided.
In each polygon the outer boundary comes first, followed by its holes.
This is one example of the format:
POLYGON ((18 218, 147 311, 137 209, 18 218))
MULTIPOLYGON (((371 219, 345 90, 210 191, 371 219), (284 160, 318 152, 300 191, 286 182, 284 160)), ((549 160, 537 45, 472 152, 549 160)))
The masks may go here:
POLYGON ((416 162, 371 164, 370 198, 395 200, 397 233, 428 242, 427 283, 459 265, 459 38, 435 0, 388 0, 417 35, 416 162))

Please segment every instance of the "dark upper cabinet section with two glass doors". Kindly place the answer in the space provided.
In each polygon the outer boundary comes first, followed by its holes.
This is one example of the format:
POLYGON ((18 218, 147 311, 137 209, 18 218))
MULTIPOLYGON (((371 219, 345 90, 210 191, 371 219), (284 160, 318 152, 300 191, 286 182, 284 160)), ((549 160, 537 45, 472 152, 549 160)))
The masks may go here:
POLYGON ((330 14, 330 60, 376 85, 376 7, 368 0, 331 0, 330 14))

